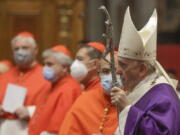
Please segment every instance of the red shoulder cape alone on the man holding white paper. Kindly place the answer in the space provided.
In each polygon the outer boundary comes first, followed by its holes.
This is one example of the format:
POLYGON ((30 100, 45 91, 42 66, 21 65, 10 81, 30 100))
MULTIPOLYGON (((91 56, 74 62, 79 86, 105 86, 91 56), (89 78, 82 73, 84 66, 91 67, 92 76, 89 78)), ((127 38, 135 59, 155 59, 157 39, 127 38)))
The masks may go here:
POLYGON ((42 66, 35 65, 24 71, 13 67, 0 77, 0 104, 3 102, 9 83, 27 88, 25 106, 37 105, 51 86, 42 76, 42 66))

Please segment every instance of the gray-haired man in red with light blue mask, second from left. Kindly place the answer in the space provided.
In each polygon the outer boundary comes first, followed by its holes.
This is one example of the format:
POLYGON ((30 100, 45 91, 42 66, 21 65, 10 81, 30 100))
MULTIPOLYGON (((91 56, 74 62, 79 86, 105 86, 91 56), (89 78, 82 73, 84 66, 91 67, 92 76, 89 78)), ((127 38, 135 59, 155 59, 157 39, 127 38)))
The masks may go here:
POLYGON ((57 45, 43 53, 45 79, 52 82, 52 89, 41 102, 29 125, 29 135, 56 135, 82 89, 69 74, 71 55, 65 46, 57 45))

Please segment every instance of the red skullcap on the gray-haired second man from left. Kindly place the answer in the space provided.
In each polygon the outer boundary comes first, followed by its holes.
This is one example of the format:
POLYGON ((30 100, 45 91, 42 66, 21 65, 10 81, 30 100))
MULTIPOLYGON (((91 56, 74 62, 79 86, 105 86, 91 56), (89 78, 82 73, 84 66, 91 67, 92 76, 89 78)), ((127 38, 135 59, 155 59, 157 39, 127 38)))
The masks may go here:
POLYGON ((56 52, 60 52, 60 53, 63 53, 69 57, 72 57, 71 52, 64 45, 56 45, 53 48, 51 48, 51 50, 56 51, 56 52))

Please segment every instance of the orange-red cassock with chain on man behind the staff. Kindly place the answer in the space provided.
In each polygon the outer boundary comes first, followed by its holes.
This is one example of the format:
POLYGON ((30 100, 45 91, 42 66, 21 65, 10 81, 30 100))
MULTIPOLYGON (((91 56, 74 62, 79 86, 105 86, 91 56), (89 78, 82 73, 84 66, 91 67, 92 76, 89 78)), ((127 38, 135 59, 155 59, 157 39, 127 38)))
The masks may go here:
POLYGON ((118 126, 117 111, 101 89, 84 92, 67 113, 59 135, 113 135, 118 126))

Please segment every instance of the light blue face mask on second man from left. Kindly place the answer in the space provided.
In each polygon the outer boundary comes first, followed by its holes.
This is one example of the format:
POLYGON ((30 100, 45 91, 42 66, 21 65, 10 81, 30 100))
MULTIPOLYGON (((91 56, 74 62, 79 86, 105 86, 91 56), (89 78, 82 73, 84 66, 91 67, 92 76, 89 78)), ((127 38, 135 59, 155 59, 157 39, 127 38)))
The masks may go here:
POLYGON ((43 76, 46 80, 51 81, 51 82, 55 82, 58 80, 58 77, 55 75, 55 71, 48 66, 45 66, 43 68, 43 76))

